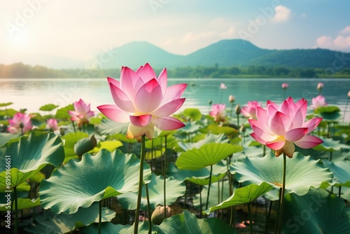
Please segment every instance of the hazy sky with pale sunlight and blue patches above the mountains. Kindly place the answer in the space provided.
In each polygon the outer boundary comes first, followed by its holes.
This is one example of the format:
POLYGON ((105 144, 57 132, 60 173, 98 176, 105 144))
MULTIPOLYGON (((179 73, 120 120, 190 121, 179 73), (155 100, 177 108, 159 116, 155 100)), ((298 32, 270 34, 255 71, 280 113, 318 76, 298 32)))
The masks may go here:
POLYGON ((0 63, 87 60, 132 41, 178 55, 224 39, 350 52, 349 0, 0 0, 0 63))

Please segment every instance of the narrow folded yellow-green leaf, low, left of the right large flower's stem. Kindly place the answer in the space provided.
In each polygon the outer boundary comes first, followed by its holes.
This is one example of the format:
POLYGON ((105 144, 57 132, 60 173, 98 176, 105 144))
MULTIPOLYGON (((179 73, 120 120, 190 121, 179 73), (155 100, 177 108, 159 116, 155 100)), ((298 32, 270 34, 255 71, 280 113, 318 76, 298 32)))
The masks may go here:
POLYGON ((249 184, 248 186, 244 186, 242 188, 235 189, 235 193, 233 193, 230 198, 221 202, 220 204, 210 207, 205 210, 203 213, 209 214, 216 209, 225 209, 228 207, 232 207, 234 205, 241 205, 245 203, 252 202, 256 198, 259 198, 261 195, 264 195, 268 191, 270 191, 273 187, 270 184, 262 182, 260 185, 257 184, 249 184))

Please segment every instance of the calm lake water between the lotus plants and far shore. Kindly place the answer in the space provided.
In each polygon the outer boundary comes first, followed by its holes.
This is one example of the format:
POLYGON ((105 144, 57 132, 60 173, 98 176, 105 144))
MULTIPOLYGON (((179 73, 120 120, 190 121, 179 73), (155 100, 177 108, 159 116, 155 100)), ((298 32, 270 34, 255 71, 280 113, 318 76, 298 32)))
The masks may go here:
MULTIPOLYGON (((169 84, 188 83, 183 97, 186 102, 181 109, 196 107, 203 113, 209 111, 209 100, 230 106, 228 96, 234 95, 235 104, 245 105, 257 100, 265 106, 267 99, 281 103, 284 96, 301 99, 311 104, 312 97, 318 95, 316 85, 323 82, 322 95, 329 105, 338 106, 344 111, 349 97, 350 79, 325 78, 169 78, 169 84), (227 89, 221 90, 225 83, 227 89), (284 92, 282 83, 289 87, 284 92)), ((113 104, 106 78, 1 78, 0 102, 13 102, 8 108, 38 111, 44 104, 66 106, 82 98, 90 103, 93 110, 101 104, 113 104)), ((349 104, 350 105, 350 104, 349 104)), ((346 111, 346 122, 350 122, 350 106, 346 111)))

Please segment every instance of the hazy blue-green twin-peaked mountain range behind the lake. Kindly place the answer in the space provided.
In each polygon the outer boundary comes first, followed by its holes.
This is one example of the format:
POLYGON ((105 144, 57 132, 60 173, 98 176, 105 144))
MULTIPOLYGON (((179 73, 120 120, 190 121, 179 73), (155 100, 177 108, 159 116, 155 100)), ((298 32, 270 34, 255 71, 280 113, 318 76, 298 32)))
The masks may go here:
POLYGON ((242 39, 218 41, 189 55, 174 55, 146 41, 135 41, 98 55, 94 60, 104 61, 104 68, 127 66, 132 69, 146 62, 155 68, 264 66, 326 69, 335 67, 335 64, 350 67, 350 53, 321 48, 268 50, 242 39), (102 57, 109 57, 109 60, 102 60, 102 57))

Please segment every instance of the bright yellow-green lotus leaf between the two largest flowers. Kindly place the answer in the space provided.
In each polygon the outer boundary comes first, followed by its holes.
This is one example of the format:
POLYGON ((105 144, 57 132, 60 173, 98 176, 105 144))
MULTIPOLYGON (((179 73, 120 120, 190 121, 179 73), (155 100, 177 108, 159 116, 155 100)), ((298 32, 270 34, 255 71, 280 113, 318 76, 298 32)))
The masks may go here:
POLYGON ((228 143, 204 144, 200 149, 194 148, 181 153, 176 160, 176 166, 180 170, 199 170, 209 165, 215 165, 242 149, 242 146, 228 143))

